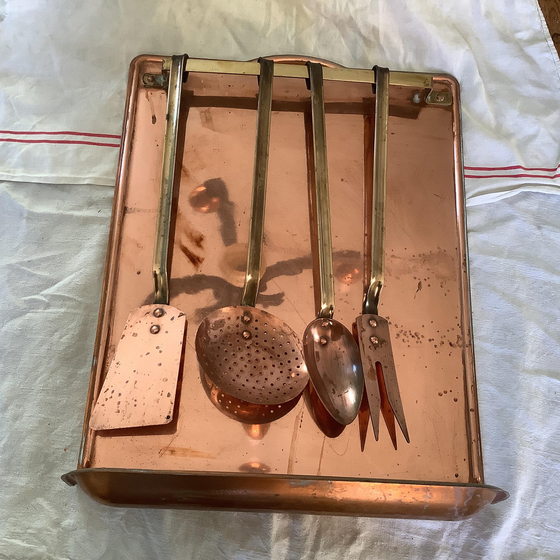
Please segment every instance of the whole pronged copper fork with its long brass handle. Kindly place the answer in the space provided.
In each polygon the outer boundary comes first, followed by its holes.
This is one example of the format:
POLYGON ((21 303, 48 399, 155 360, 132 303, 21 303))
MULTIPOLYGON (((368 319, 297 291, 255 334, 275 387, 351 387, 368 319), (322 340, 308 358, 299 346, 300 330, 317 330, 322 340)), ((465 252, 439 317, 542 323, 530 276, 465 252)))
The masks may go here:
POLYGON ((372 200, 371 274, 356 318, 363 376, 375 439, 379 438, 379 412, 383 413, 396 449, 394 418, 409 442, 403 403, 396 379, 388 321, 379 315, 379 296, 385 266, 385 190, 389 122, 389 69, 375 67, 374 192, 372 200), (394 416, 393 416, 394 415, 394 416))

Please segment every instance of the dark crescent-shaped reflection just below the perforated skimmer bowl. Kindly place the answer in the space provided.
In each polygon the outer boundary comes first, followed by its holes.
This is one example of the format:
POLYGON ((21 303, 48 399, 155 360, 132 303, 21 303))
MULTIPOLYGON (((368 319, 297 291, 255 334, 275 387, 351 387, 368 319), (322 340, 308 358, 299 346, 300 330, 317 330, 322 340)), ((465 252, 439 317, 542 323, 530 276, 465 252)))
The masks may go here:
MULTIPOLYGON (((285 416, 300 400, 301 393, 291 400, 282 404, 253 404, 237 399, 235 396, 224 393, 218 386, 201 374, 202 386, 214 407, 225 414, 228 418, 244 424, 268 424, 285 416)), ((264 436, 263 432, 263 436, 264 436)))

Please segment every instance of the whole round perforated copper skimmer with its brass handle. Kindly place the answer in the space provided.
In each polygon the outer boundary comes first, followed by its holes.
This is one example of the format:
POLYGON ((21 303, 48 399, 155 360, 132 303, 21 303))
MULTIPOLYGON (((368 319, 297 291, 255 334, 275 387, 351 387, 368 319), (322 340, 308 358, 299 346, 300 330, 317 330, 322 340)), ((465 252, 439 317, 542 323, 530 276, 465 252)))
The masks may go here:
POLYGON ((309 376, 301 342, 274 315, 255 309, 263 249, 274 62, 259 59, 253 198, 241 305, 222 307, 200 323, 195 339, 200 366, 222 391, 254 404, 282 404, 305 389, 309 376))

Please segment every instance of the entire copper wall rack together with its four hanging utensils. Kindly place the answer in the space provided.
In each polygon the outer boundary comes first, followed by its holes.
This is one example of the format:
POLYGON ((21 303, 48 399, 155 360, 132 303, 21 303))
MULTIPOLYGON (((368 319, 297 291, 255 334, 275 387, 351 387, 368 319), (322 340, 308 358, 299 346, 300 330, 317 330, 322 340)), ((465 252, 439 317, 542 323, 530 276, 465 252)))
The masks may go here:
POLYGON ((115 506, 438 520, 504 500, 484 483, 459 89, 135 58, 64 482, 115 506))

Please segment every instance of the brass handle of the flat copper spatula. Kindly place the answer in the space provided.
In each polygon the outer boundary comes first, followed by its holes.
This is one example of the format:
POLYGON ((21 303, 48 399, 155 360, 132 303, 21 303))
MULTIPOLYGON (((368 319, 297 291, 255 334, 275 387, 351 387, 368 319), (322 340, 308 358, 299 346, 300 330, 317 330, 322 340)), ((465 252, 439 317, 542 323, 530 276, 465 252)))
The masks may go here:
POLYGON ((167 282, 167 250, 169 249, 169 228, 171 225, 171 201, 175 178, 175 156, 177 152, 177 130, 179 128, 179 108, 181 86, 187 55, 174 55, 169 71, 167 91, 167 114, 165 117, 164 157, 161 169, 160 200, 157 204, 156 244, 153 248, 153 287, 155 304, 169 304, 167 282))

